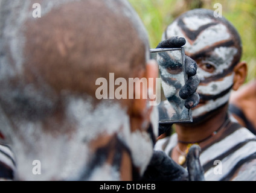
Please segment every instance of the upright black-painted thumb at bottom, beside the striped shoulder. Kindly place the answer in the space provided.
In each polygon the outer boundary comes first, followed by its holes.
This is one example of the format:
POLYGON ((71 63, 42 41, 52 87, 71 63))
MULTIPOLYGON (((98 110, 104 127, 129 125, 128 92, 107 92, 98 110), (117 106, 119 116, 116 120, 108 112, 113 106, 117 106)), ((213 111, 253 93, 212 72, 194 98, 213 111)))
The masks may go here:
POLYGON ((192 145, 187 155, 188 179, 190 181, 205 181, 203 167, 200 164, 199 156, 201 148, 199 145, 192 145))

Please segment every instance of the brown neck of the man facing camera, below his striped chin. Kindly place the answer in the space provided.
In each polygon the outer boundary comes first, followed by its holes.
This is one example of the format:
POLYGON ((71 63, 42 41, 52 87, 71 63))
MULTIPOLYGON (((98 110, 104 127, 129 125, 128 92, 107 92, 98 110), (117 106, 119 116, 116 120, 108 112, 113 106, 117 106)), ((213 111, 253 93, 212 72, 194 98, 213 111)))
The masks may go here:
POLYGON ((209 144, 214 132, 225 127, 227 117, 228 104, 220 107, 214 112, 211 112, 207 118, 202 121, 193 122, 191 124, 177 124, 175 125, 178 140, 181 144, 198 143, 201 148, 203 144, 209 144), (207 142, 206 142, 207 141, 207 142))

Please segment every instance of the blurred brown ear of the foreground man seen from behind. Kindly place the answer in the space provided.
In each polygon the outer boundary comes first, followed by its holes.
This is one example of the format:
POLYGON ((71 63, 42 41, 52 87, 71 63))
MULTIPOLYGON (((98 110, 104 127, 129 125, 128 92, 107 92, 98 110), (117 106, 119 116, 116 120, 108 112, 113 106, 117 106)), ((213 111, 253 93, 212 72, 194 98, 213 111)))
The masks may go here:
POLYGON ((142 84, 140 87, 134 87, 134 99, 132 103, 132 112, 130 114, 132 130, 136 130, 138 128, 141 128, 143 130, 145 128, 148 128, 150 114, 152 113, 153 110, 153 106, 149 105, 150 98, 148 92, 153 92, 153 90, 155 90, 156 87, 156 78, 158 78, 158 65, 156 61, 150 60, 149 62, 147 62, 146 70, 139 76, 140 77, 138 78, 140 80, 142 80, 142 78, 146 78, 144 80, 147 80, 147 90, 142 88, 142 84), (153 84, 149 84, 149 78, 153 78, 153 84), (135 95, 137 95, 138 93, 139 99, 136 99, 135 95))

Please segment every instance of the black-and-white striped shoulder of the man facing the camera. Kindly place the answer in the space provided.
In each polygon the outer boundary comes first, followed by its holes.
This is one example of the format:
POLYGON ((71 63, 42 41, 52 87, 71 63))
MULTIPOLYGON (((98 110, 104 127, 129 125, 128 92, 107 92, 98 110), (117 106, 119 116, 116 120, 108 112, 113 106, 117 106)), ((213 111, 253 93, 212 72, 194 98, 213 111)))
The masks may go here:
POLYGON ((200 156, 206 180, 232 180, 242 165, 254 159, 256 137, 244 127, 211 145, 200 156))

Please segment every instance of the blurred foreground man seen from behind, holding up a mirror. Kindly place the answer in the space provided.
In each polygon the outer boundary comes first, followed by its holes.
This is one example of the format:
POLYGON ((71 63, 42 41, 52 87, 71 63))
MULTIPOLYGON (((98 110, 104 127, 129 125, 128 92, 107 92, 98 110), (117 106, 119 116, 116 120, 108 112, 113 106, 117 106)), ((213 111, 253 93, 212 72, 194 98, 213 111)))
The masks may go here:
MULTIPOLYGON (((143 179, 202 179, 197 146, 190 176, 153 151, 158 121, 149 100, 96 96, 98 78, 110 81, 110 73, 127 82, 158 76, 130 4, 43 0, 34 18, 36 2, 0 0, 0 131, 14 152, 14 179, 138 180, 147 166, 143 179)), ((187 60, 187 68, 193 77, 195 63, 187 60)), ((194 92, 188 90, 189 107, 197 104, 190 101, 194 92)))

